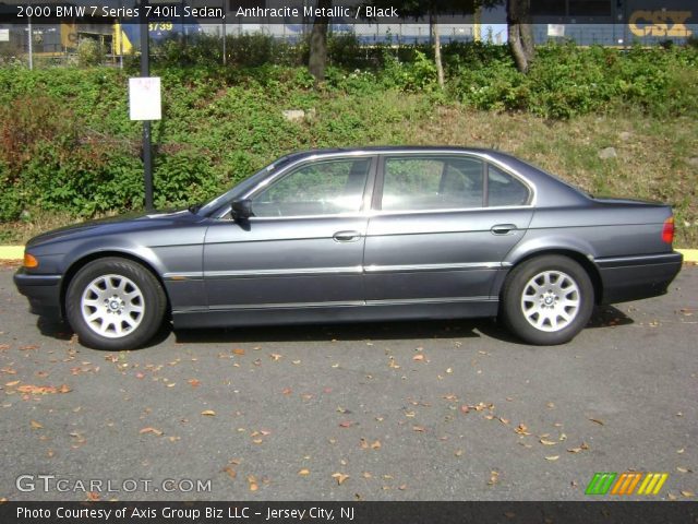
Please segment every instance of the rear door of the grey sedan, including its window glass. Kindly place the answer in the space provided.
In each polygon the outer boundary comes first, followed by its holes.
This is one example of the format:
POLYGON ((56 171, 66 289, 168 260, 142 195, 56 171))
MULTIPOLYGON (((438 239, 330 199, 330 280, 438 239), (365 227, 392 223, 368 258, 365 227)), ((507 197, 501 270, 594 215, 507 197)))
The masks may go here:
POLYGON ((477 156, 381 158, 364 271, 383 303, 483 300, 532 216, 532 189, 477 156))

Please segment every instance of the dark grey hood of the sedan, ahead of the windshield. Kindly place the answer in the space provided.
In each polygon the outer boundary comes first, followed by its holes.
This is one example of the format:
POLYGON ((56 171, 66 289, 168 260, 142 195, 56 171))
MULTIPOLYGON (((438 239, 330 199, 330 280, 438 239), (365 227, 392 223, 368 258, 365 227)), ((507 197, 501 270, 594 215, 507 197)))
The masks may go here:
POLYGON ((51 242, 55 240, 77 238, 83 235, 116 233, 123 231, 124 229, 145 229, 155 224, 161 225, 163 223, 195 222, 198 219, 201 219, 201 217, 186 210, 156 211, 153 213, 131 212, 51 229, 50 231, 43 233, 32 238, 26 243, 26 247, 31 248, 39 243, 51 242))

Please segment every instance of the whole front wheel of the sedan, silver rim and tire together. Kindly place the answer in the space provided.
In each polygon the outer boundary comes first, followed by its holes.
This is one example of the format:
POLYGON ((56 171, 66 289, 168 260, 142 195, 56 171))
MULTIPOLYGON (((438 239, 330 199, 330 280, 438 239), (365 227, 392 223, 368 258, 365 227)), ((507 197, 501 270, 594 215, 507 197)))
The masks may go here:
POLYGON ((89 262, 65 294, 65 315, 81 344, 111 352, 141 347, 153 338, 166 305, 153 273, 120 258, 89 262))

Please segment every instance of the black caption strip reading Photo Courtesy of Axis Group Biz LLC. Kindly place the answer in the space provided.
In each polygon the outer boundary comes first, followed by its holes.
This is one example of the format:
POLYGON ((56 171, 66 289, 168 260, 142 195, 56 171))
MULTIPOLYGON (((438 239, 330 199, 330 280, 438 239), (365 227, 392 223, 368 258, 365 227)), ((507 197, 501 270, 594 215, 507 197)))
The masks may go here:
POLYGON ((695 524, 696 502, 5 502, 3 524, 695 524))

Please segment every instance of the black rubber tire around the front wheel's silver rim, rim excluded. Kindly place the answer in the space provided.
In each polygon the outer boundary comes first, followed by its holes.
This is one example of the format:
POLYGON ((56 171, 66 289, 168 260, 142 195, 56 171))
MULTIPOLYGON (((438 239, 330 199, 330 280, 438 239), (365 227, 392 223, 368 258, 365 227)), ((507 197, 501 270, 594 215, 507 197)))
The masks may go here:
POLYGON ((158 331, 165 317, 165 291, 153 273, 141 264, 128 259, 105 258, 87 263, 71 279, 65 293, 65 317, 81 344, 95 349, 134 349, 147 343, 158 331), (95 278, 107 275, 122 275, 134 282, 143 294, 145 311, 139 326, 121 338, 108 338, 95 333, 84 321, 81 298, 85 287, 95 278))

